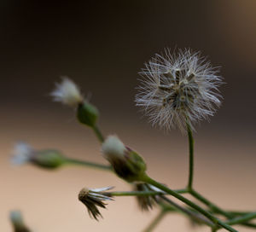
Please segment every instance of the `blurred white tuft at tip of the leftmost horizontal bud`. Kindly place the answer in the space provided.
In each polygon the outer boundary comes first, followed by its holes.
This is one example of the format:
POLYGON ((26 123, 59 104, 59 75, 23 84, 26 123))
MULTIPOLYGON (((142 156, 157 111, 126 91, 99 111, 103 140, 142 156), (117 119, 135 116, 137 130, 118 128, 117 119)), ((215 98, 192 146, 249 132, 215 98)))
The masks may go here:
POLYGON ((23 165, 32 158, 33 149, 25 142, 15 144, 12 163, 14 165, 23 165))

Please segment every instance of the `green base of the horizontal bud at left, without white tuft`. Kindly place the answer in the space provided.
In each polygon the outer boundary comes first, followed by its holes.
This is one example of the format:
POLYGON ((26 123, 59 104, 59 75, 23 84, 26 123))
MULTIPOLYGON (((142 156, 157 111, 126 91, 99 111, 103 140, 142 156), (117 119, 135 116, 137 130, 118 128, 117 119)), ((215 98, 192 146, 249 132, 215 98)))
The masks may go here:
POLYGON ((57 150, 41 150, 32 156, 31 161, 35 165, 55 169, 63 165, 66 162, 66 159, 57 150))

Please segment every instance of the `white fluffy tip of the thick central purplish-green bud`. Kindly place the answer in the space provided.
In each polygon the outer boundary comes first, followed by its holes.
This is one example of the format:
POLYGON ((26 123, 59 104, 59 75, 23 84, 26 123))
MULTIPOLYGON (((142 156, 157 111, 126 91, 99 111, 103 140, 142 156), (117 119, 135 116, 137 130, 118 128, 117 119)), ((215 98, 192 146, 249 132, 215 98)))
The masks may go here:
POLYGON ((125 145, 117 136, 108 136, 102 144, 102 153, 106 159, 121 158, 125 155, 125 145))

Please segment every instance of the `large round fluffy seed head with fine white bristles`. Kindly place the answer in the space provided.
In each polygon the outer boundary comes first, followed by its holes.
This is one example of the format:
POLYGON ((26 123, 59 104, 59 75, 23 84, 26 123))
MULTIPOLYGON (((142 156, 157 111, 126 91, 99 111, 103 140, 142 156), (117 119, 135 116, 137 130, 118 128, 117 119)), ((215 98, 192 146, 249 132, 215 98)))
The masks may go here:
POLYGON ((136 96, 153 125, 167 130, 207 119, 220 105, 218 69, 190 49, 155 55, 140 73, 143 77, 136 96))

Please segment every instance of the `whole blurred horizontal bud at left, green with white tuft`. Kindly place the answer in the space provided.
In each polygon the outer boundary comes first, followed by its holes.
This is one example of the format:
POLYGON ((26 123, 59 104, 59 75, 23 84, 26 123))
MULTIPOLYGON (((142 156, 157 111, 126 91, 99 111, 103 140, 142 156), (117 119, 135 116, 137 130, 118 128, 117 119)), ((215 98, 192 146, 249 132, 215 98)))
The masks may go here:
POLYGON ((66 159, 60 151, 51 149, 36 150, 25 142, 18 142, 15 145, 12 163, 15 165, 32 163, 40 167, 54 169, 65 164, 66 159))

